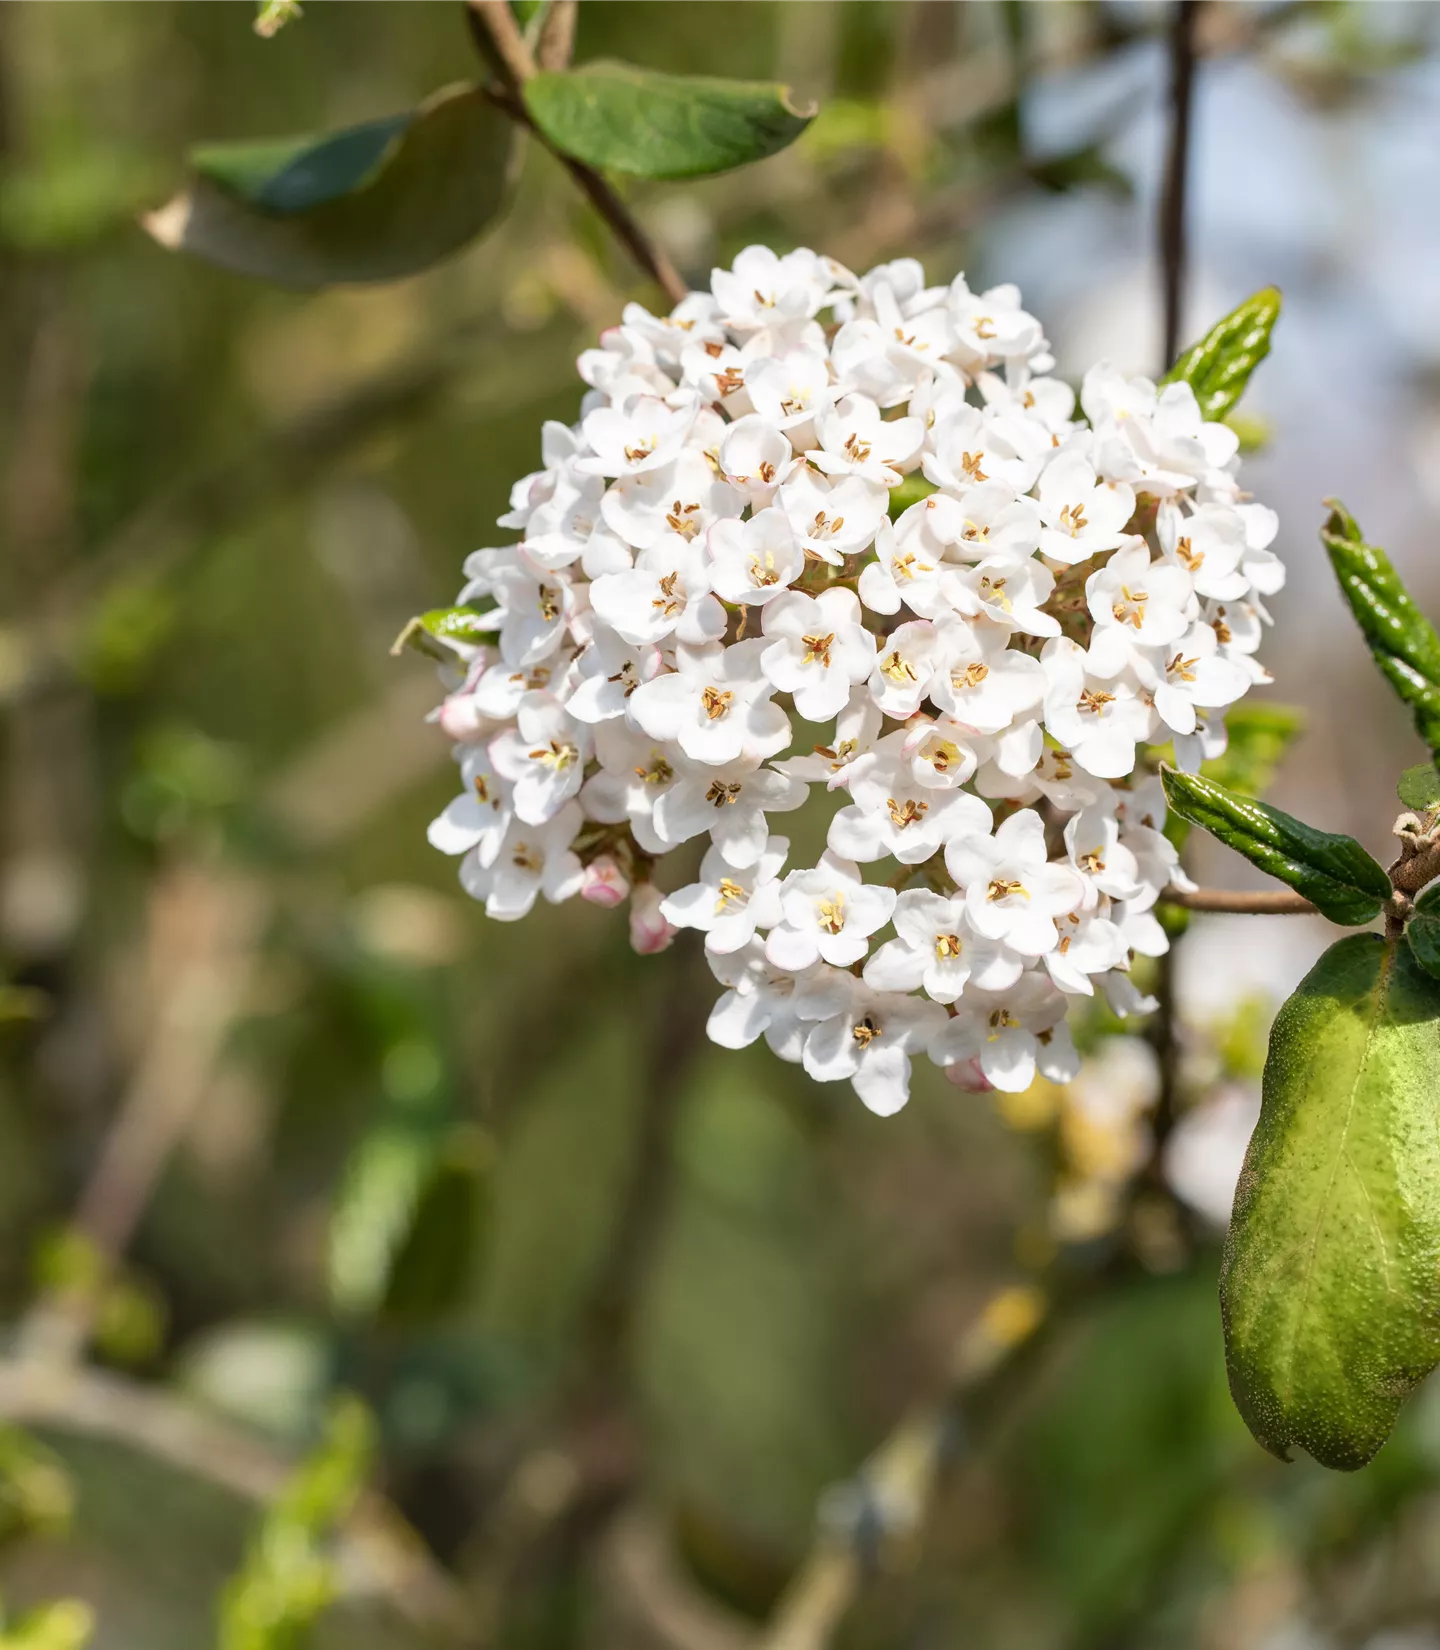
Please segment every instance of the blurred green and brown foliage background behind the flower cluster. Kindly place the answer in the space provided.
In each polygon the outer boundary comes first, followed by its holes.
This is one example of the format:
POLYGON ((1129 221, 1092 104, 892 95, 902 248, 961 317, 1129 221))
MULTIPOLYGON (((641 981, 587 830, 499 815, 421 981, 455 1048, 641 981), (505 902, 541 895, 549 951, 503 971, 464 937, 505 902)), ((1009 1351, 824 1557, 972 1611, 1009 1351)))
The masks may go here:
MULTIPOLYGON (((459 3, 252 21, 0 0, 0 1643, 1440 1643, 1437 1394, 1346 1480, 1264 1457, 1224 1384, 1217 1233, 1323 924, 1191 926, 1161 1162, 1115 1023, 1067 1094, 927 1069, 879 1120, 711 1049, 685 942, 460 896, 435 683, 389 644, 653 294, 534 148, 416 280, 158 251, 135 213, 188 144, 475 73, 459 3)), ((1168 21, 584 0, 579 56, 821 101, 759 167, 627 191, 689 277, 757 239, 917 254, 1019 280, 1062 370, 1155 370, 1168 21)), ((1435 610, 1433 8, 1207 0, 1199 40, 1184 332, 1287 289, 1245 431, 1306 728, 1260 713, 1232 782, 1278 767, 1379 851, 1414 756, 1313 526, 1343 492, 1435 610)))

